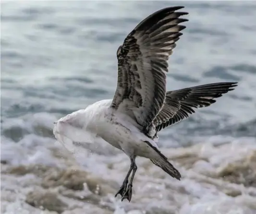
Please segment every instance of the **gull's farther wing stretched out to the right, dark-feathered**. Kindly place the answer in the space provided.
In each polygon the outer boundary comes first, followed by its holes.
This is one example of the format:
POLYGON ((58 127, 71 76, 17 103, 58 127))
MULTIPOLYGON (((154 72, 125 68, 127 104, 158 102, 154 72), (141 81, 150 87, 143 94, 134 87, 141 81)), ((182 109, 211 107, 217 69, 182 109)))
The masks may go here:
POLYGON ((210 106, 216 102, 214 98, 234 90, 235 86, 236 83, 212 83, 167 92, 164 106, 154 119, 156 131, 188 118, 195 113, 193 108, 210 106))

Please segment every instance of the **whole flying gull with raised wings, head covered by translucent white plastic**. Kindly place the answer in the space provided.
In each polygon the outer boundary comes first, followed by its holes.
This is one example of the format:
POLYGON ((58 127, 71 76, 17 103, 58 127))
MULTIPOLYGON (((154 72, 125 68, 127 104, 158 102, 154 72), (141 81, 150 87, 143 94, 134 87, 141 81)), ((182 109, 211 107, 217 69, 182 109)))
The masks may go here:
POLYGON ((105 99, 75 111, 55 122, 53 133, 74 140, 92 133, 122 150, 131 161, 117 195, 132 199, 137 156, 151 160, 171 177, 180 172, 158 148, 158 132, 195 113, 196 108, 215 103, 237 83, 210 83, 179 90, 166 90, 168 59, 183 34, 187 19, 183 6, 161 9, 140 22, 117 50, 118 81, 113 99, 105 99), (69 134, 68 134, 69 133, 69 134), (132 173, 132 175, 131 175, 132 173), (131 178, 129 180, 129 177, 131 178))

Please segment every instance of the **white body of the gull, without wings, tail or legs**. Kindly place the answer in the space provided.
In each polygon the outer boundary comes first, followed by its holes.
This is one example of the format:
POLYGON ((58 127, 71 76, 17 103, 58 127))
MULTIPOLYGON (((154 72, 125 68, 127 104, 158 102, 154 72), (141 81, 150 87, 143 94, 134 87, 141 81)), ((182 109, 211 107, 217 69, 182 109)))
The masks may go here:
MULTIPOLYGON (((112 146, 121 149, 126 155, 138 155, 150 158, 152 148, 144 141, 153 146, 157 144, 135 125, 135 121, 129 116, 110 108, 111 100, 99 101, 84 110, 73 112, 60 119, 61 123, 68 123, 76 129, 88 131, 95 136, 101 137, 112 146)), ((57 130, 57 129, 56 129, 57 130)))

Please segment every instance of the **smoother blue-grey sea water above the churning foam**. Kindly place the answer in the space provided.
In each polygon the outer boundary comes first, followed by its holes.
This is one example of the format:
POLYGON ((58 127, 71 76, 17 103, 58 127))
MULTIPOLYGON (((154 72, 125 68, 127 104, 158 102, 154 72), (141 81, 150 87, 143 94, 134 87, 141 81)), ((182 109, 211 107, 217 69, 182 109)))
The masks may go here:
POLYGON ((2 133, 17 128, 24 116, 46 112, 53 120, 112 98, 119 45, 146 15, 174 5, 185 6, 189 22, 170 57, 168 90, 224 81, 238 87, 162 131, 161 142, 178 146, 198 137, 255 137, 253 1, 3 1, 2 133))

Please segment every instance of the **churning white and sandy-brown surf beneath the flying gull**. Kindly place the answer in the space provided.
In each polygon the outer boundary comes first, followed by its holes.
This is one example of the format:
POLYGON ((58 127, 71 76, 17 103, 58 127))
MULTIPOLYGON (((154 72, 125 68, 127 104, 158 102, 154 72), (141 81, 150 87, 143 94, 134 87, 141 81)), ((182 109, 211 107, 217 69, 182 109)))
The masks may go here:
POLYGON ((162 149, 180 170, 181 181, 149 160, 137 158, 134 198, 130 203, 121 203, 114 194, 129 168, 122 153, 105 155, 103 150, 97 154, 78 145, 77 153, 72 155, 49 137, 27 134, 18 143, 3 137, 2 212, 16 213, 21 209, 39 214, 40 209, 48 209, 62 214, 90 210, 102 214, 130 214, 135 210, 141 214, 215 214, 217 210, 219 214, 237 210, 241 214, 255 213, 255 139, 213 142, 162 149), (31 179, 33 182, 29 182, 31 179), (11 209, 10 200, 19 208, 11 209))

